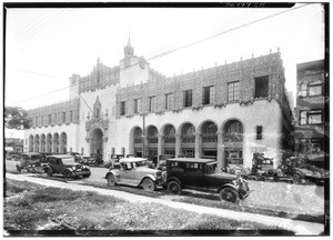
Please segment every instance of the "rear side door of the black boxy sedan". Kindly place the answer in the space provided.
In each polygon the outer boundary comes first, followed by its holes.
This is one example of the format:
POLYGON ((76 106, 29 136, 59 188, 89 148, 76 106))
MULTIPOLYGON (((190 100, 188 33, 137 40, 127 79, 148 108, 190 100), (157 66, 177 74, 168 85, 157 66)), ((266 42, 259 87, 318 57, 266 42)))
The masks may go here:
POLYGON ((184 172, 184 186, 194 188, 203 187, 202 163, 186 162, 184 172))

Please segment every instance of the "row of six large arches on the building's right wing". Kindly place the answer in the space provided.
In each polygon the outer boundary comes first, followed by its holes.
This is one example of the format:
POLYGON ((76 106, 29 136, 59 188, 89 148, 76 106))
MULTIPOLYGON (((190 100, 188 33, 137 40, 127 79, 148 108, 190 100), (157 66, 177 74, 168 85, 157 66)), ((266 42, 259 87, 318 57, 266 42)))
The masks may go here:
POLYGON ((137 126, 131 131, 130 147, 137 156, 218 157, 218 143, 223 142, 225 159, 242 158, 243 133, 243 124, 238 119, 226 121, 221 128, 211 120, 196 128, 191 122, 183 122, 178 128, 167 123, 160 130, 151 124, 144 132, 137 126))

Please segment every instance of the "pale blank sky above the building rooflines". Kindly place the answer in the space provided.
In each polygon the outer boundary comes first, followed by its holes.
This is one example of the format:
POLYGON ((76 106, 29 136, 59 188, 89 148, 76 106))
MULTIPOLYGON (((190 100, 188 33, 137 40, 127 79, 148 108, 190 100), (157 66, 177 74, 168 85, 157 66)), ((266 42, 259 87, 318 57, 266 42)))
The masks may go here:
POLYGON ((295 93, 296 64, 324 58, 323 16, 320 3, 292 9, 8 9, 4 106, 32 109, 65 101, 69 78, 89 74, 98 58, 118 66, 129 36, 134 54, 167 77, 279 48, 286 89, 295 93), (154 58, 165 51, 171 53, 154 58))

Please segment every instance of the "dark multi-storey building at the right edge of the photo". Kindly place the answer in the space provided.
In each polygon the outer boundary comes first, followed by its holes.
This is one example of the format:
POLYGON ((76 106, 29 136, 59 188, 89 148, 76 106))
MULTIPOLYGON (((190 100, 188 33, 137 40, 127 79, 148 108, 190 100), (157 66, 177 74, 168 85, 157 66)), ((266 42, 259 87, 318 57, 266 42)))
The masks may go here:
POLYGON ((295 140, 299 154, 329 168, 329 86, 324 60, 297 69, 295 140))

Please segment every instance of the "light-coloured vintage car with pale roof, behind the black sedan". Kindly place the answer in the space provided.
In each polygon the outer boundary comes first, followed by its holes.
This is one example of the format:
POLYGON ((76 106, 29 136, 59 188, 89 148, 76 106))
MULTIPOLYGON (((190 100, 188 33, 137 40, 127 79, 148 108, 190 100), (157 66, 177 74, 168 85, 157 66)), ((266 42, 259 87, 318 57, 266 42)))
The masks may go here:
POLYGON ((162 171, 149 168, 144 158, 123 158, 119 169, 109 169, 105 174, 108 186, 127 184, 142 187, 144 191, 154 191, 162 186, 162 171))

